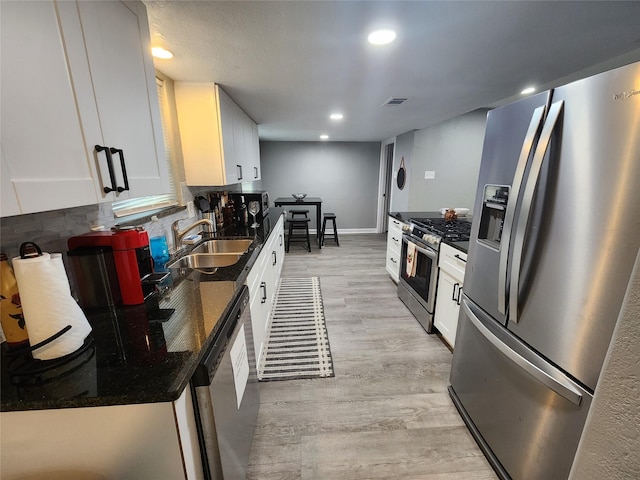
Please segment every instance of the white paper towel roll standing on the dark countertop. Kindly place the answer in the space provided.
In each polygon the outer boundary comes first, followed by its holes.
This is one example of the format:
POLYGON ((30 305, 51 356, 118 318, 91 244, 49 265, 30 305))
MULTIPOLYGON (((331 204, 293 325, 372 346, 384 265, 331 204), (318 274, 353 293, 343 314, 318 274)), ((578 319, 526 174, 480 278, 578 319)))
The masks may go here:
POLYGON ((35 349, 33 358, 51 360, 75 352, 91 332, 91 326, 71 296, 62 254, 15 257, 12 264, 31 346, 71 325, 64 335, 35 349))

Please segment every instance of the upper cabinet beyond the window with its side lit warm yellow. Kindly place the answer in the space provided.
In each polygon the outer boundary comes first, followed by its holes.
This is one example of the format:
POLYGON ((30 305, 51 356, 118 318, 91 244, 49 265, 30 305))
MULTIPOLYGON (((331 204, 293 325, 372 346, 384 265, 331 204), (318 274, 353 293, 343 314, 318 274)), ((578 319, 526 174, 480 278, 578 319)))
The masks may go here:
POLYGON ((175 84, 188 185, 216 186, 260 179, 258 127, 213 83, 175 84))

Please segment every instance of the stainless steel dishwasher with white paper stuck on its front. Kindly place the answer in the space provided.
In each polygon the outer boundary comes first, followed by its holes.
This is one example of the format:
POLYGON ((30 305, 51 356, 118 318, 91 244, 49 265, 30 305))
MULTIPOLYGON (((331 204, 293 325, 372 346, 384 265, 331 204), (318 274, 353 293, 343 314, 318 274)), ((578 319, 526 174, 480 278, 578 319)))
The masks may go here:
POLYGON ((249 289, 244 286, 192 379, 207 479, 244 479, 260 394, 249 289))

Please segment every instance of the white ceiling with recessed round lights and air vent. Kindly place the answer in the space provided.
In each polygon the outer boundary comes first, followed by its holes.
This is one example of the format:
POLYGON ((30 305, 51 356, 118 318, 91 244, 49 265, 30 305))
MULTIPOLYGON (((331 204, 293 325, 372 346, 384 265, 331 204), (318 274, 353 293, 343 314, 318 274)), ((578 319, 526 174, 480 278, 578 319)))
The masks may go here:
POLYGON ((640 60, 640 2, 145 1, 176 81, 216 82, 263 140, 381 141, 640 60), (391 27, 396 41, 367 44, 391 27), (408 97, 382 107, 390 97, 408 97), (343 112, 335 123, 329 113, 343 112))

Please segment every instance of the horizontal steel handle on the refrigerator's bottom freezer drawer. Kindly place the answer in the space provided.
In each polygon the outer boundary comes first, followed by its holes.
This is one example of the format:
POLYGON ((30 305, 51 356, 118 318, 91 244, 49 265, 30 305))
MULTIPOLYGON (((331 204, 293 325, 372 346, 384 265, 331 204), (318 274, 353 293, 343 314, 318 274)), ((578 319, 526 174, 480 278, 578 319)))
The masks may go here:
POLYGON ((567 399, 574 405, 580 405, 582 402, 582 394, 576 390, 571 384, 562 382, 549 373, 545 372, 542 368, 534 365, 529 360, 509 348, 502 340, 496 337, 483 323, 482 321, 471 311, 469 303, 466 298, 462 299, 462 309, 467 318, 473 323, 473 326, 491 343, 500 353, 511 360, 513 363, 522 368, 525 372, 538 380, 543 385, 547 386, 561 397, 567 399))

